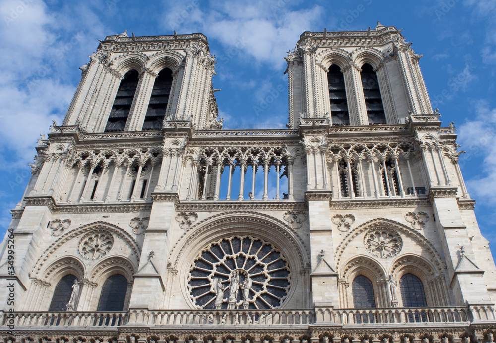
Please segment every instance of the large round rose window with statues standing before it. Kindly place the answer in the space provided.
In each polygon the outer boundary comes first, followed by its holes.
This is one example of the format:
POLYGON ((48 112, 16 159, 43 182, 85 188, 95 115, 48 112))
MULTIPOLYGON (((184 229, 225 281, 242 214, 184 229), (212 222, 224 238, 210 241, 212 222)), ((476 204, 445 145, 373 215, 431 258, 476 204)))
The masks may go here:
POLYGON ((291 273, 272 244, 248 236, 205 247, 188 276, 193 303, 204 309, 271 309, 288 295, 291 273))

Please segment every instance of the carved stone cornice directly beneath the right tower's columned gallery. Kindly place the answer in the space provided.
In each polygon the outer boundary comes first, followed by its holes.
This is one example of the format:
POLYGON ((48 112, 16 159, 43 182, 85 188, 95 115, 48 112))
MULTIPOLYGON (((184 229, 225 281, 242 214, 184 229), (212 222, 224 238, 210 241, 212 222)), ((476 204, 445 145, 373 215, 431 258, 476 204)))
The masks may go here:
POLYGON ((366 199, 366 200, 332 200, 331 210, 395 208, 395 207, 428 207, 428 199, 366 199))

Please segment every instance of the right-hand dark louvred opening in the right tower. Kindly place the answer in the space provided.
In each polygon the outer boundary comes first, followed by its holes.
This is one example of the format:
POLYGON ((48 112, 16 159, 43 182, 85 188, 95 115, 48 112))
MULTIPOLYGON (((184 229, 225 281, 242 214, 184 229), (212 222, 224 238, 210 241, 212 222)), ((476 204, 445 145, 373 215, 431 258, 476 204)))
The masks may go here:
POLYGON ((369 117, 369 125, 385 124, 386 115, 380 97, 379 82, 377 74, 372 65, 365 63, 362 66, 362 87, 364 88, 365 107, 369 117))

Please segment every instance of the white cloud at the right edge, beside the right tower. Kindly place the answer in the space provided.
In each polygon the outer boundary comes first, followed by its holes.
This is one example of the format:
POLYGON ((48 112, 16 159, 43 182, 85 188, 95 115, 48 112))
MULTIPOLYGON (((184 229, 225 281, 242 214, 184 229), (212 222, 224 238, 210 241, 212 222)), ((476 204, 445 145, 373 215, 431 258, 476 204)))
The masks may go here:
MULTIPOLYGON (((467 120, 459 130, 459 142, 466 156, 460 166, 472 164, 477 175, 466 180, 472 198, 483 198, 484 203, 496 204, 496 108, 485 101, 476 104, 476 117, 467 120), (481 163, 483 160, 483 163, 481 163)), ((482 200, 482 199, 481 199, 482 200)))

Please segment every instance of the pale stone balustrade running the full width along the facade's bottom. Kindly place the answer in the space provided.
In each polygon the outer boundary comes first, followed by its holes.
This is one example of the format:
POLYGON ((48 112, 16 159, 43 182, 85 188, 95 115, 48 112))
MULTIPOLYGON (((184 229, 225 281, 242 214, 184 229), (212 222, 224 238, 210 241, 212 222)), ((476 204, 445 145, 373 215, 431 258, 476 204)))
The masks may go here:
POLYGON ((1 326, 117 327, 146 326, 302 326, 311 324, 385 325, 496 323, 493 306, 315 310, 146 310, 129 312, 0 312, 1 326))

